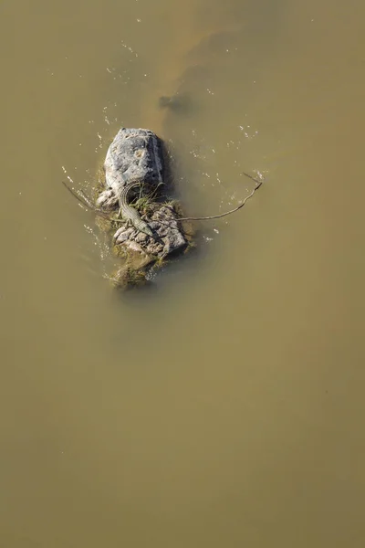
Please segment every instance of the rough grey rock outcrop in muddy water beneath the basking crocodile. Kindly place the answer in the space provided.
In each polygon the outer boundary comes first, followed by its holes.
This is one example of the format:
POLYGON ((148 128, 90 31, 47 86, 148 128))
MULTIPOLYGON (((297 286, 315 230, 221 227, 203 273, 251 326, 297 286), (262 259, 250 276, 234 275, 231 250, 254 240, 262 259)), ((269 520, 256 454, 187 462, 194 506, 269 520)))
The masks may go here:
MULTIPOLYGON (((177 213, 172 204, 162 196, 163 189, 163 153, 162 142, 150 130, 122 128, 110 144, 105 163, 105 190, 97 200, 99 208, 119 209, 120 189, 132 180, 142 180, 142 189, 133 193, 131 189, 128 201, 134 206, 134 198, 147 195, 140 200, 140 214, 146 220, 155 237, 149 237, 127 223, 118 224, 113 239, 120 254, 127 256, 128 265, 120 272, 139 271, 157 259, 183 249, 187 245, 183 228, 177 221, 177 213), (140 194, 141 193, 141 194, 140 194)), ((139 204, 137 202, 136 206, 139 204)))

